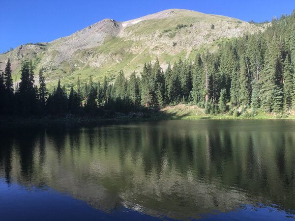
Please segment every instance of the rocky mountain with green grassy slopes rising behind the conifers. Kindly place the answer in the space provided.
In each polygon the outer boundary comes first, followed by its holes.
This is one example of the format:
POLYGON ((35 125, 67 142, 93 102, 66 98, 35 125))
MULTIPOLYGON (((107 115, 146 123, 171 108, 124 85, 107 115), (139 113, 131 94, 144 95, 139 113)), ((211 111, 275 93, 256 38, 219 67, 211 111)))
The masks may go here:
POLYGON ((26 59, 32 59, 36 74, 45 68, 49 85, 60 78, 68 86, 78 77, 83 82, 90 75, 94 81, 103 76, 114 79, 121 69, 126 76, 139 73, 143 64, 155 57, 165 69, 167 62, 179 57, 194 58, 204 46, 214 51, 223 38, 258 32, 265 26, 184 9, 164 10, 126 22, 104 19, 70 36, 21 45, 1 54, 0 70, 10 57, 14 79, 26 59))

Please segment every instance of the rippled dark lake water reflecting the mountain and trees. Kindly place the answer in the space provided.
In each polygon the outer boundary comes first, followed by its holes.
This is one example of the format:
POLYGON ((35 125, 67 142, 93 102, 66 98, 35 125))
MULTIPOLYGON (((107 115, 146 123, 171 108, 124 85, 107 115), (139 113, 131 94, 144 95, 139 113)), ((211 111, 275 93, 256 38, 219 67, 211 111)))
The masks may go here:
POLYGON ((0 220, 294 220, 295 121, 0 131, 0 220))

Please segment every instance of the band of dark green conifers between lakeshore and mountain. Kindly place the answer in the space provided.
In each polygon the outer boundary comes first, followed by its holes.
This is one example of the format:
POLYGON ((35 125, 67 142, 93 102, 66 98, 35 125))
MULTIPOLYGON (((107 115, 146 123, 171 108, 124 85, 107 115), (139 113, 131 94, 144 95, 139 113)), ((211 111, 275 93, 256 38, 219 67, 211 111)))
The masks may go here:
POLYGON ((122 71, 114 82, 72 84, 60 80, 46 88, 43 69, 34 82, 32 62, 24 62, 20 83, 13 83, 8 59, 0 75, 1 115, 102 114, 188 103, 206 113, 245 113, 258 110, 290 113, 295 109, 295 12, 271 22, 265 31, 224 40, 214 53, 168 64, 145 63, 140 75, 128 79, 122 71))

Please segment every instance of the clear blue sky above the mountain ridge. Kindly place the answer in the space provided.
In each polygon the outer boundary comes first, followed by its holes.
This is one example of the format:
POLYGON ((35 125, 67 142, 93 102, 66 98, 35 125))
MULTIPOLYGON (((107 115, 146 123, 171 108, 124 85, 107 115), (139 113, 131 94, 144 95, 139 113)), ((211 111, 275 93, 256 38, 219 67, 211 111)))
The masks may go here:
POLYGON ((48 42, 104 18, 126 21, 184 8, 262 22, 290 14, 295 0, 0 0, 0 53, 25 43, 48 42))

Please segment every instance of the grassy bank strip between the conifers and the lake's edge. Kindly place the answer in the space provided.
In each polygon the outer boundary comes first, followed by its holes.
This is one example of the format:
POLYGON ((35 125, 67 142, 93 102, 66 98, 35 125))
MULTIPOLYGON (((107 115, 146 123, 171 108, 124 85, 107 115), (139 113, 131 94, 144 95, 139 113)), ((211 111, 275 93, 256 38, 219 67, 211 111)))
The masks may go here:
POLYGON ((0 116, 0 129, 17 126, 50 126, 50 125, 99 125, 105 123, 121 122, 144 122, 159 120, 295 120, 295 115, 275 115, 265 112, 258 112, 256 115, 241 114, 240 116, 225 114, 206 114, 203 109, 197 106, 179 104, 167 106, 160 110, 138 111, 129 114, 116 113, 112 118, 102 116, 32 116, 14 117, 0 116))

